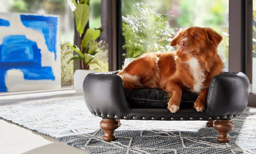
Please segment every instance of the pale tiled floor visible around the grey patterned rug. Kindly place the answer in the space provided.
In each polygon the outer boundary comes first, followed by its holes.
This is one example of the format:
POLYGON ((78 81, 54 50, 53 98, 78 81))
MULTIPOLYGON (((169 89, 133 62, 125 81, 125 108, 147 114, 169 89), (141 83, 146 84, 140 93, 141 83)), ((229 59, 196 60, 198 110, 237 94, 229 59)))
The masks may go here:
MULTIPOLYGON (((62 92, 1 96, 0 105, 17 101, 76 95, 74 90, 62 92)), ((0 119, 0 154, 88 154, 85 150, 59 142, 19 125, 0 119)))

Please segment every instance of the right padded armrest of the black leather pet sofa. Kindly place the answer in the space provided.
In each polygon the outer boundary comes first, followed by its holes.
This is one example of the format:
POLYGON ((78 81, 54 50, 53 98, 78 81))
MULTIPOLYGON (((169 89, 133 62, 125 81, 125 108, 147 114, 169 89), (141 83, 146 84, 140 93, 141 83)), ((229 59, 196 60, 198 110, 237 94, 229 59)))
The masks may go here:
POLYGON ((215 76, 206 97, 205 112, 209 119, 230 119, 241 115, 248 104, 249 80, 242 72, 215 76))

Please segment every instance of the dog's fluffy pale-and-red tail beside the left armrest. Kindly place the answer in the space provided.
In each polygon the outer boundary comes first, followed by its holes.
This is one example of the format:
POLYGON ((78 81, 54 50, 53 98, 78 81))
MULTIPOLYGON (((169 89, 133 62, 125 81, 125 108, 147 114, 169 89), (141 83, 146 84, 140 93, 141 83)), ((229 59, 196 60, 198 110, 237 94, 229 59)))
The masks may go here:
POLYGON ((125 89, 134 89, 136 87, 142 87, 143 85, 139 81, 139 77, 136 75, 130 75, 123 71, 119 72, 118 75, 123 80, 123 86, 125 89))

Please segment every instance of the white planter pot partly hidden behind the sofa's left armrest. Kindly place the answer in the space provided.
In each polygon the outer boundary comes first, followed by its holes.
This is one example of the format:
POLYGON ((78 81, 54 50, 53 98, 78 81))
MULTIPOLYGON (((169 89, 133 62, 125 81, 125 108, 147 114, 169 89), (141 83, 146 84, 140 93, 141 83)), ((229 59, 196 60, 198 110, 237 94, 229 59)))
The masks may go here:
POLYGON ((76 93, 83 93, 83 82, 87 74, 94 72, 92 70, 77 69, 74 73, 74 89, 76 93))

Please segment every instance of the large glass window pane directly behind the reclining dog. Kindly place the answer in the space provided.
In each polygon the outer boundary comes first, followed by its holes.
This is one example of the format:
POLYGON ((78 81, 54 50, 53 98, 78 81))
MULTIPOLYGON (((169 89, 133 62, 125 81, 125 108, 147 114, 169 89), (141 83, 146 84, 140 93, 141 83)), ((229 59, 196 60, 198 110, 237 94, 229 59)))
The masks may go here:
POLYGON ((218 52, 228 71, 228 0, 122 0, 123 62, 169 52, 179 28, 210 27, 223 36, 218 52))

